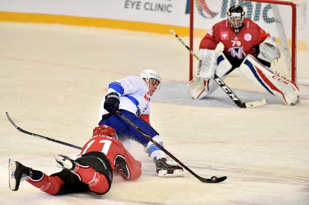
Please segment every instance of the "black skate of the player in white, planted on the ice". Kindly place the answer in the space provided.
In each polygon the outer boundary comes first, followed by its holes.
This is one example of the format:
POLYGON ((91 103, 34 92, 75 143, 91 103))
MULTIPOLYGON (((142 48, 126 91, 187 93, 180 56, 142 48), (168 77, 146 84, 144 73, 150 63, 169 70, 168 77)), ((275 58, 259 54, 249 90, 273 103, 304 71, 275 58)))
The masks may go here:
POLYGON ((169 165, 166 163, 166 158, 154 158, 155 166, 157 167, 158 176, 178 177, 184 176, 184 170, 177 165, 169 165))

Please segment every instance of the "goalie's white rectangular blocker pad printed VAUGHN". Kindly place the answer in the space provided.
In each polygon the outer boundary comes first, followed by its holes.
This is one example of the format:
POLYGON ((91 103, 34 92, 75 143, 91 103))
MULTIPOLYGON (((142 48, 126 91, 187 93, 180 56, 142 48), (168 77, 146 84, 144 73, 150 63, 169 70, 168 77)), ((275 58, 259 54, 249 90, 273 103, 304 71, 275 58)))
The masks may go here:
POLYGON ((217 58, 215 51, 210 49, 200 49, 200 59, 196 74, 197 78, 212 78, 216 67, 217 58))

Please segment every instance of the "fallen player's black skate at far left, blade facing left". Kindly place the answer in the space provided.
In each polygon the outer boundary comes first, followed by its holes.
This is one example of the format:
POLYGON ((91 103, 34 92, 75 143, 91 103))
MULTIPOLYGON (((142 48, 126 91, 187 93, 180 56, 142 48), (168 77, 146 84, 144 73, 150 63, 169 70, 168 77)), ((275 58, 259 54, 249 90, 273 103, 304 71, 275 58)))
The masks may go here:
POLYGON ((13 191, 17 191, 20 182, 27 179, 27 176, 32 177, 32 169, 23 166, 20 162, 9 159, 9 186, 13 191))

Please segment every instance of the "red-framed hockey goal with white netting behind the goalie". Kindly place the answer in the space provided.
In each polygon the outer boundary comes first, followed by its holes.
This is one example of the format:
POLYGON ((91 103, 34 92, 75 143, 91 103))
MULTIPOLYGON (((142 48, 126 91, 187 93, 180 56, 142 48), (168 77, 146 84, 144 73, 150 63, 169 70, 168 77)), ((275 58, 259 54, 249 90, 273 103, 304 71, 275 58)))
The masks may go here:
MULTIPOLYGON (((301 91, 309 91, 307 0, 191 0, 190 48, 199 55, 201 39, 215 23, 227 18, 226 12, 233 5, 241 6, 246 18, 269 32, 281 45, 282 56, 271 64, 271 69, 294 80, 301 91)), ((216 52, 219 50, 223 50, 222 43, 216 52)), ((190 56, 190 80, 196 68, 197 60, 190 56)), ((235 69, 230 76, 242 75, 235 69)))

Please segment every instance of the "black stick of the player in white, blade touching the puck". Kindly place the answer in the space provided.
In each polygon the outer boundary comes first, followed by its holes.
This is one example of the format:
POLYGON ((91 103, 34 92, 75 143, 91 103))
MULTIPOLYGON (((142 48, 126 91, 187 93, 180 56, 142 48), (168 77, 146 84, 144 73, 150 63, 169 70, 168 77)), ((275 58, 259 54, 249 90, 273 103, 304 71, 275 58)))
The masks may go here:
POLYGON ((190 172, 193 176, 195 176, 198 180, 204 183, 218 183, 226 180, 227 177, 216 177, 213 176, 210 179, 202 178, 195 174, 192 170, 190 170, 187 166, 185 166, 182 162, 180 162, 176 157, 174 157, 171 153, 169 153, 164 147, 162 147, 158 142, 154 141, 149 135, 147 135, 143 130, 141 130, 137 125, 135 125, 133 122, 131 122, 128 118, 126 118, 123 114, 121 114, 118 110, 116 110, 116 113, 122 117, 125 121, 127 121, 132 127, 137 129, 140 133, 142 133, 147 139, 149 139, 152 143, 154 143, 156 146, 158 146, 163 152, 165 152, 168 156, 170 156, 173 160, 175 160, 180 166, 184 167, 188 172, 190 172))

